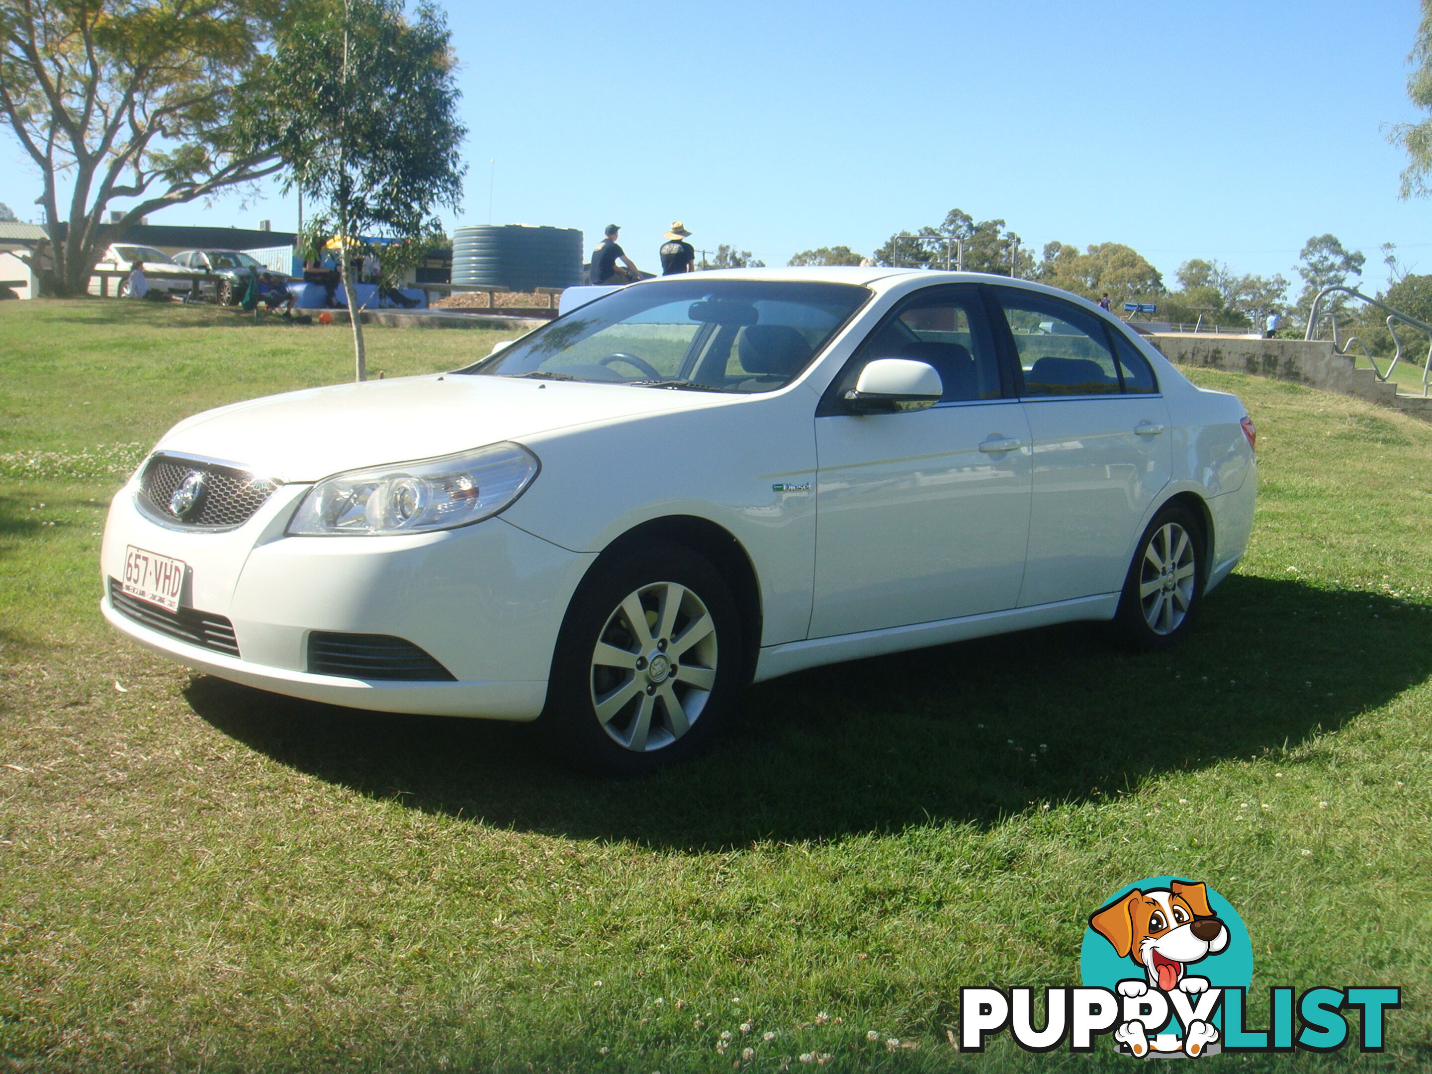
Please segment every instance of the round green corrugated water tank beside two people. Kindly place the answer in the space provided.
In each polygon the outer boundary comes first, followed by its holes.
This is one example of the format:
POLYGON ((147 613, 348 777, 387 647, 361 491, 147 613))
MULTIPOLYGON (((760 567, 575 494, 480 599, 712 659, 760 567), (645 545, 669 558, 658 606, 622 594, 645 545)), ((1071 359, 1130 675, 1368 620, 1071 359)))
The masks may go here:
POLYGON ((458 228, 453 233, 453 282, 531 291, 581 282, 581 232, 526 223, 458 228))

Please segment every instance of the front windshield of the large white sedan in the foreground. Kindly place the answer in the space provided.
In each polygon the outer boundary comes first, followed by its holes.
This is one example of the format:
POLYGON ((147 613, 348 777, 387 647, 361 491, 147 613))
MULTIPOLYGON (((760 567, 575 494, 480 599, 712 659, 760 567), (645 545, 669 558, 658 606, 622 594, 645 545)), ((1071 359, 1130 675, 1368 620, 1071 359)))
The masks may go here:
POLYGON ((775 391, 805 369, 869 296, 849 284, 643 284, 574 309, 461 372, 775 391))

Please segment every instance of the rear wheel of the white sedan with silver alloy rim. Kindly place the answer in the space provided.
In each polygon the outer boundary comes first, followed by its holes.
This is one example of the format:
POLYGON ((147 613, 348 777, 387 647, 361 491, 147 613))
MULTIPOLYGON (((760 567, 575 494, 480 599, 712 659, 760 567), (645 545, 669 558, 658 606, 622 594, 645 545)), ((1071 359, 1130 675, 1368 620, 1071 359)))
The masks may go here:
POLYGON ((1114 616, 1133 649, 1169 649, 1189 633, 1207 584, 1204 564, 1200 520, 1184 504, 1166 505, 1138 538, 1114 616))

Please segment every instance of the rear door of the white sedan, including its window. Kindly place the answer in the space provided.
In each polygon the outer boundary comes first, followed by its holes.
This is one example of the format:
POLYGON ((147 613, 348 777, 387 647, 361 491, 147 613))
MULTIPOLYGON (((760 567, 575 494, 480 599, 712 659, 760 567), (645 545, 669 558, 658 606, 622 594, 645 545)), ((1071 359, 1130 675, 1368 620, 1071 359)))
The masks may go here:
POLYGON ((1148 362, 1091 311, 991 289, 1017 355, 1032 435, 1034 501, 1020 606, 1124 584, 1137 530, 1169 484, 1169 410, 1148 362))

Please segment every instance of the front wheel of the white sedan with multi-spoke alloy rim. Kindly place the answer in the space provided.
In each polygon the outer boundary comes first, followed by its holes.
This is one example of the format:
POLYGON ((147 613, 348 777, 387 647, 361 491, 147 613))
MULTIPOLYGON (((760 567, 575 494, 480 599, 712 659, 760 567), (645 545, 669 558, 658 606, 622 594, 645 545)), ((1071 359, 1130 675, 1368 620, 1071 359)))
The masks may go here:
POLYGON ((567 609, 541 723, 576 768, 654 772, 729 720, 743 664, 736 601, 706 558, 664 543, 620 553, 567 609))

